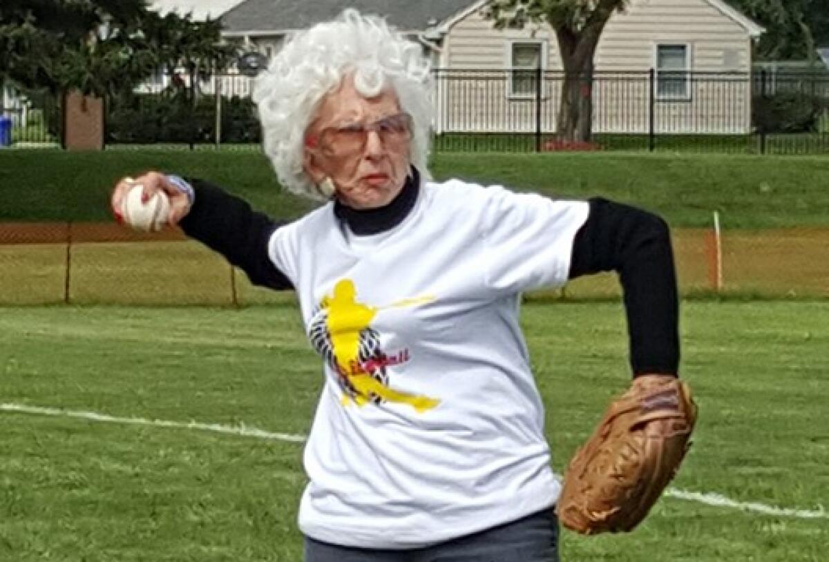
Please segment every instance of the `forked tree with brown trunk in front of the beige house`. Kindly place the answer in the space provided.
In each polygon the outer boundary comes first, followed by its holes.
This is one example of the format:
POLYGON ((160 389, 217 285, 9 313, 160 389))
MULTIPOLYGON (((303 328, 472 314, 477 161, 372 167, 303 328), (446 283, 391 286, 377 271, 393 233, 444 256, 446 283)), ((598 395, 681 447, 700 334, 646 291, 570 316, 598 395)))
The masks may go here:
POLYGON ((626 0, 494 0, 487 10, 497 29, 546 22, 555 31, 565 70, 556 122, 559 140, 590 141, 596 46, 610 17, 626 4, 626 0))

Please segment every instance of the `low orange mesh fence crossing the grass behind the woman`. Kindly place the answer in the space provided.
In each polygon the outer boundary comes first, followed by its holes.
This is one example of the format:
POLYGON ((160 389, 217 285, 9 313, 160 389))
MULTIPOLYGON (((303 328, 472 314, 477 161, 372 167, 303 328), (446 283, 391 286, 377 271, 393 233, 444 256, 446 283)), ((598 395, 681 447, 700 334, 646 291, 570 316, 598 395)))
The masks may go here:
MULTIPOLYGON (((829 229, 674 232, 681 293, 829 297, 829 229)), ((284 303, 177 230, 140 235, 96 223, 0 224, 0 304, 284 303)), ((617 295, 611 275, 577 279, 556 298, 617 295)))

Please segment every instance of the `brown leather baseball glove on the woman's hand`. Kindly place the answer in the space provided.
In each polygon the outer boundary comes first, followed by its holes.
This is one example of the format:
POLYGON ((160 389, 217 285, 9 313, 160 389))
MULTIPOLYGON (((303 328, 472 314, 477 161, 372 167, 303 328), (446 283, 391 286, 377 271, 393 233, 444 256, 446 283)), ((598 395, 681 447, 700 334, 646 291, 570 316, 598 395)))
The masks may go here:
POLYGON ((556 508, 562 524, 585 535, 632 531, 676 474, 695 422, 684 382, 634 379, 570 461, 556 508))

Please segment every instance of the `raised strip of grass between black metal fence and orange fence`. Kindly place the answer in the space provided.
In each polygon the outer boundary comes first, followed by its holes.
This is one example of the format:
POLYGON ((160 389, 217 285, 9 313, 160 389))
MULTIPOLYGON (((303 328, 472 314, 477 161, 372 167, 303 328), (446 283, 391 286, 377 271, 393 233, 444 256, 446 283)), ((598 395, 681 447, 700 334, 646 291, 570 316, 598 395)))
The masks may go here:
MULTIPOLYGON (((111 220, 119 177, 148 169, 210 179, 273 216, 306 201, 279 189, 263 155, 248 150, 0 151, 0 220, 111 220)), ((829 158, 672 153, 442 153, 435 177, 503 183, 550 196, 606 196, 658 211, 674 226, 725 228, 829 224, 829 158)))

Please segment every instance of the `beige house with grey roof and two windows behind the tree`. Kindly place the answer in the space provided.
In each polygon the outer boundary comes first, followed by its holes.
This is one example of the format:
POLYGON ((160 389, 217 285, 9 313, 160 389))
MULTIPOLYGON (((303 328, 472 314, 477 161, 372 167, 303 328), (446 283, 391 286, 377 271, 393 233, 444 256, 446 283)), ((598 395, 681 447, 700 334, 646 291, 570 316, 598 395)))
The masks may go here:
MULTIPOLYGON (((424 46, 439 69, 438 133, 555 131, 563 67, 549 26, 496 30, 483 15, 487 0, 350 5, 386 17, 424 46)), ((245 0, 221 17, 223 35, 273 56, 293 31, 342 7, 335 0, 245 0)), ((752 44, 763 32, 723 0, 631 0, 599 41, 594 132, 749 133, 752 44)))

